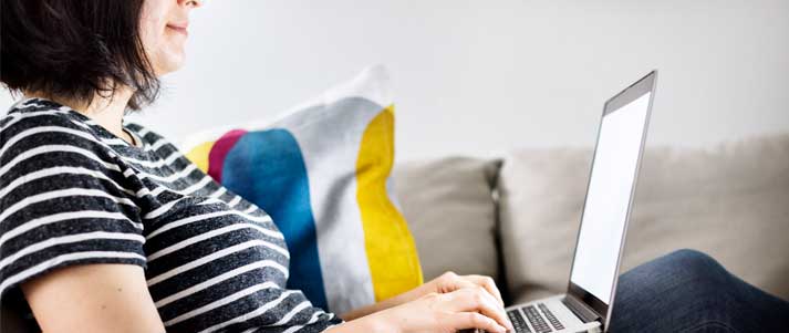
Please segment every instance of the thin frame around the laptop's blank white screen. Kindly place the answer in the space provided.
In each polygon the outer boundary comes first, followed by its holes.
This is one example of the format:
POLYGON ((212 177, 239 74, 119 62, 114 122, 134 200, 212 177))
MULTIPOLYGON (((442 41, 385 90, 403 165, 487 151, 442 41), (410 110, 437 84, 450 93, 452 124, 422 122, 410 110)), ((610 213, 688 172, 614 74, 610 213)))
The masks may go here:
POLYGON ((648 74, 644 75, 640 80, 637 80, 635 83, 631 84, 626 89, 622 90, 620 93, 614 95, 613 97, 609 98, 605 101, 605 104, 603 105, 603 115, 600 117, 600 124, 598 125, 598 137, 595 139, 594 144, 594 150, 592 153, 592 164, 589 168, 589 177, 588 177, 588 183, 586 183, 586 195, 584 196, 583 199, 583 206, 581 207, 581 221, 580 226, 578 229, 578 235, 575 236, 575 249, 573 250, 573 256, 572 256, 572 262, 570 263, 570 275, 568 278, 568 289, 567 289, 567 294, 568 296, 574 298, 577 301, 581 302, 582 304, 586 305, 592 312, 594 312, 601 320, 601 323, 603 324, 603 330, 605 330, 611 321, 611 310, 613 309, 613 302, 614 298, 616 295, 616 284, 619 282, 619 273, 620 273, 620 266, 622 262, 622 253, 624 252, 624 247, 625 247, 625 239, 627 235, 627 225, 630 222, 630 216, 633 210, 633 200, 635 198, 635 188, 636 184, 639 181, 639 173, 641 170, 641 159, 644 154, 644 145, 646 144, 646 134, 647 129, 650 127, 650 118, 652 114, 652 104, 655 100, 655 86, 657 83, 657 70, 653 70, 648 74), (637 100, 639 97, 643 96, 644 94, 650 93, 650 103, 646 108, 646 119, 644 121, 644 132, 641 136, 641 146, 639 147, 639 158, 636 159, 636 165, 635 165, 635 177, 633 178, 633 185, 631 188, 631 196, 630 200, 627 202, 627 211, 625 214, 625 221, 624 221, 624 231, 622 232, 622 239, 620 240, 620 251, 619 256, 616 258, 616 268, 614 271, 614 281, 611 287, 611 299, 609 300, 609 303, 606 304, 602 300, 598 299, 595 295, 583 289, 582 287, 575 284, 572 282, 572 269, 575 263, 575 256, 578 254, 578 243, 581 237, 581 229, 583 228, 583 211, 585 210, 586 207, 586 200, 589 196, 589 186, 591 185, 591 178, 592 178, 592 173, 594 171, 594 158, 596 155, 598 150, 598 145, 600 144, 600 132, 602 129, 603 125, 603 119, 605 118, 606 115, 622 108, 622 106, 625 106, 630 104, 631 102, 637 100))

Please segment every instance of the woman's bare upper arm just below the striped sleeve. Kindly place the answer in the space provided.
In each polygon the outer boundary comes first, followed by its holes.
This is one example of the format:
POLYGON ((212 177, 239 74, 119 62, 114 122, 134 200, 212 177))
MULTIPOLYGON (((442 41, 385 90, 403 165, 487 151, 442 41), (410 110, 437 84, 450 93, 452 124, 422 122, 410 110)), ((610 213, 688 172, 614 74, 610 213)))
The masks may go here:
POLYGON ((165 332, 138 266, 71 266, 22 283, 22 291, 46 333, 165 332))

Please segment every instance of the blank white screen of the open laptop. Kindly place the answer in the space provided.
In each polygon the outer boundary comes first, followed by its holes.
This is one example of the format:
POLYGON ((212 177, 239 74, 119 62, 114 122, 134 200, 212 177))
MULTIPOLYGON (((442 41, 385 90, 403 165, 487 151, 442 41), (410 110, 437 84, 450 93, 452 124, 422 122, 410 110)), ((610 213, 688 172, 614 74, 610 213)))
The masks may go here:
POLYGON ((570 280, 605 304, 616 273, 650 93, 603 116, 570 280))

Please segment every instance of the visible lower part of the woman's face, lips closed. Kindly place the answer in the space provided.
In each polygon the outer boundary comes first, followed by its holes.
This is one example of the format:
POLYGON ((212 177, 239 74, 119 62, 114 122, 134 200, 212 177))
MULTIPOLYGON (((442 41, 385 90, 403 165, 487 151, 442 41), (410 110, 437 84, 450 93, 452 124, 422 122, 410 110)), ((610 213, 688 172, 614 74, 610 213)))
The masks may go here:
POLYGON ((184 64, 189 12, 204 0, 145 0, 139 33, 157 76, 184 64))

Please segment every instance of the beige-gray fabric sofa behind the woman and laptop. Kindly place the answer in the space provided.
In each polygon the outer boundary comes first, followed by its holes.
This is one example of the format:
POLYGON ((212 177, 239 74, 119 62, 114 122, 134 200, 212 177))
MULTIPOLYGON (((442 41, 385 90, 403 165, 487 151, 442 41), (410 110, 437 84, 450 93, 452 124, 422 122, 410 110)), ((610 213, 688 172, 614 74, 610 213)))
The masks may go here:
MULTIPOLYGON (((497 280, 507 304, 567 287, 592 147, 516 149, 500 158, 397 164, 393 188, 425 281, 497 280)), ((647 145, 622 270, 691 248, 789 300, 789 134, 706 147, 647 145)), ((0 332, 30 332, 2 304, 0 332)), ((34 324, 33 324, 34 325, 34 324)))

